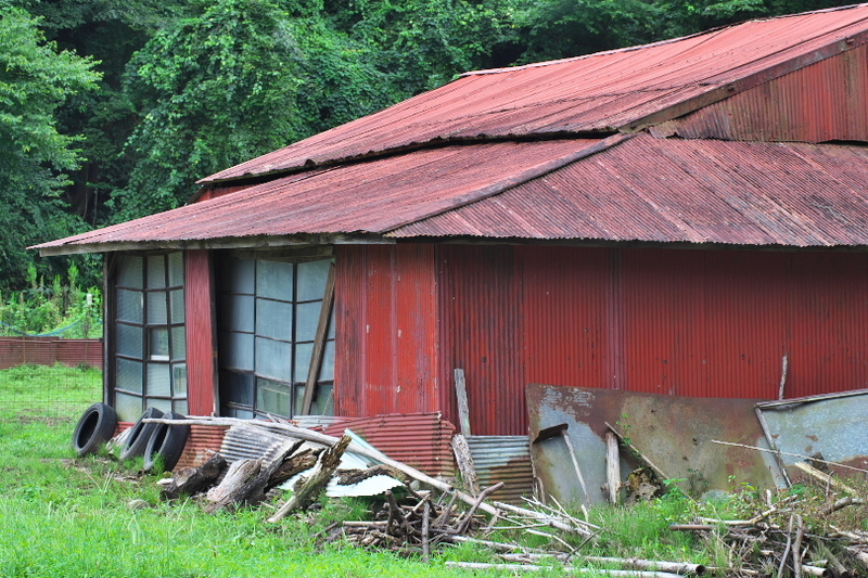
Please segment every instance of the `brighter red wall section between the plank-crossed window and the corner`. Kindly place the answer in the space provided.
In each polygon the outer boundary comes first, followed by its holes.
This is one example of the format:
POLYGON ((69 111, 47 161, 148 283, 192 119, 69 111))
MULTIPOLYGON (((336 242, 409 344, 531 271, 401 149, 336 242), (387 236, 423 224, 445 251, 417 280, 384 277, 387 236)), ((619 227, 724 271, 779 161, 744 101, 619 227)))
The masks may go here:
POLYGON ((436 411, 434 246, 339 245, 335 262, 336 413, 436 411))

